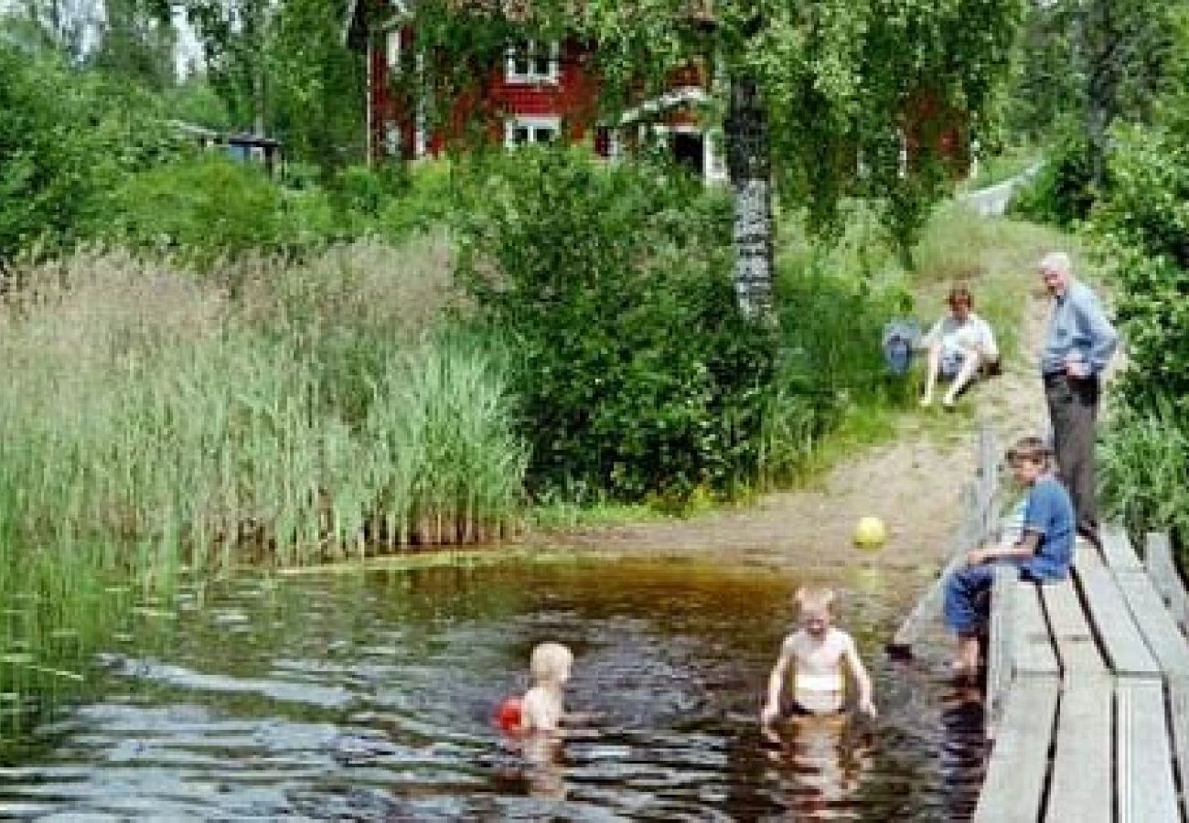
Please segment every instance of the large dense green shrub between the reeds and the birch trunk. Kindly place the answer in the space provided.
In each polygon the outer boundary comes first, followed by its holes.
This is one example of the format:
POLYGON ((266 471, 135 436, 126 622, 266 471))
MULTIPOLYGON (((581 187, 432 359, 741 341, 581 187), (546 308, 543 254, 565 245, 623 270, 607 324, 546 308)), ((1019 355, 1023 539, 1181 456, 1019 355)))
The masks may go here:
POLYGON ((750 483, 773 337, 730 283, 730 208, 682 175, 580 151, 495 159, 459 271, 515 352, 536 491, 750 483))

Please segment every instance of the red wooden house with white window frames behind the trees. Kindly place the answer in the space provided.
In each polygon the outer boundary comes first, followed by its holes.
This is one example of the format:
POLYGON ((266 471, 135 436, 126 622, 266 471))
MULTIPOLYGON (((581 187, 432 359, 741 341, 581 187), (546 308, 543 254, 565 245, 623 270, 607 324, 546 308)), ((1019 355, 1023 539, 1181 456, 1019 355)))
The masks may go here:
POLYGON ((436 156, 478 124, 486 139, 507 147, 565 139, 608 159, 652 132, 706 180, 726 176, 722 140, 702 112, 710 77, 700 67, 675 73, 663 95, 603 122, 592 46, 577 39, 509 43, 496 65, 479 69, 486 73, 482 82, 453 100, 424 90, 433 84, 403 0, 353 0, 346 39, 367 55, 370 161, 436 156), (445 107, 446 117, 430 117, 435 107, 445 107))

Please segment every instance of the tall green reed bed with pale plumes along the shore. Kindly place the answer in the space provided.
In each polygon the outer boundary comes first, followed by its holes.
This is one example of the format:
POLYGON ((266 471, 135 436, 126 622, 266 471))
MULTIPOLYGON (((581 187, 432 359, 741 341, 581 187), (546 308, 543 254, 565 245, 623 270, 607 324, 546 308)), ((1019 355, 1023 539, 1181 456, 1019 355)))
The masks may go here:
POLYGON ((498 365, 440 327, 440 277, 383 257, 251 260, 220 288, 120 256, 24 272, 0 325, 6 536, 168 577, 510 528, 498 365))

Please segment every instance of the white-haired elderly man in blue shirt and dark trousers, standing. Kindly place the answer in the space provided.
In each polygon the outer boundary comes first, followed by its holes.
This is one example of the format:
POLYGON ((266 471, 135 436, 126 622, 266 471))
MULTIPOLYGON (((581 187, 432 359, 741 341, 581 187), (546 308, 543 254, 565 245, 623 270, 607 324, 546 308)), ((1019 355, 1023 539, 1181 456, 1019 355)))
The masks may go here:
POLYGON ((1053 451, 1061 479, 1074 498, 1077 532, 1097 545, 1094 425, 1100 376, 1114 354, 1119 335, 1094 293, 1074 279, 1069 255, 1045 255, 1040 260, 1040 278, 1052 295, 1040 373, 1052 421, 1053 451))

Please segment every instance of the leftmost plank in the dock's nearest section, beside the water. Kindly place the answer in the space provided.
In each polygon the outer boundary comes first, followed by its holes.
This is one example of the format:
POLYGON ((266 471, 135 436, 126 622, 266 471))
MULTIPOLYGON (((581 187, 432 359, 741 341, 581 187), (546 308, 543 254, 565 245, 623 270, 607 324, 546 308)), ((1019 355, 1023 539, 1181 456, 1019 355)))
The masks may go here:
POLYGON ((1059 690, 1056 679, 1024 680, 1012 687, 979 793, 975 823, 1039 819, 1059 690))

